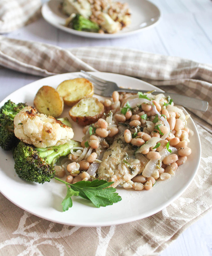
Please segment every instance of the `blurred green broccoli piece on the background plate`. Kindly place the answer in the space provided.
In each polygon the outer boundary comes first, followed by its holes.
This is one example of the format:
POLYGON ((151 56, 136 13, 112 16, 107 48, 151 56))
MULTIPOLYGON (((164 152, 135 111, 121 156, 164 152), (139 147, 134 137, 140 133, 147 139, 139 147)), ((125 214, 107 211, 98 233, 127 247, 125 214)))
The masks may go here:
POLYGON ((77 14, 70 22, 70 27, 79 31, 98 32, 99 26, 97 23, 85 19, 82 15, 77 14))

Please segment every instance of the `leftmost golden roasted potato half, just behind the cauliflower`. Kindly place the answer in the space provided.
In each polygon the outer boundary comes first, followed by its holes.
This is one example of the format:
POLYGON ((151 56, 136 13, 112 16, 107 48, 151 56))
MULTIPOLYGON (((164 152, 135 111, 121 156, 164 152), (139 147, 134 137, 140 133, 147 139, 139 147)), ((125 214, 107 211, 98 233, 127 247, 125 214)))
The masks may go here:
POLYGON ((34 106, 40 113, 58 117, 63 112, 64 102, 55 88, 45 85, 35 95, 34 106))

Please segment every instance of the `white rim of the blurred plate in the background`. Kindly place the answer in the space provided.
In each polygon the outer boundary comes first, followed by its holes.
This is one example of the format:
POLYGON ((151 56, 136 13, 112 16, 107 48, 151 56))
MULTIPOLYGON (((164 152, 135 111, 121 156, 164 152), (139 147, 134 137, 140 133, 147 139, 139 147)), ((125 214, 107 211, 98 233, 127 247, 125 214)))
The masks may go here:
MULTIPOLYGON (((56 0, 49 0, 48 2, 50 2, 50 1, 56 1, 56 0)), ((140 29, 136 29, 136 30, 128 31, 128 32, 123 32, 123 33, 99 34, 99 33, 94 33, 94 32, 78 31, 78 30, 75 30, 75 29, 71 29, 71 28, 62 26, 58 23, 51 22, 48 19, 48 16, 46 16, 46 12, 45 12, 45 9, 49 9, 48 2, 45 2, 42 5, 41 14, 42 14, 42 17, 45 19, 45 21, 48 22, 50 25, 52 25, 52 26, 54 26, 58 29, 61 29, 65 32, 67 32, 67 33, 70 33, 70 34, 73 34, 73 35, 76 35, 76 36, 95 38, 95 39, 113 39, 113 38, 120 38, 120 37, 125 37, 125 36, 130 36, 130 35, 137 34, 139 32, 142 32, 145 29, 152 28, 152 27, 156 26, 161 21, 161 17, 162 17, 161 9, 149 0, 143 0, 143 1, 154 5, 154 7, 157 9, 157 11, 159 13, 157 20, 149 26, 141 27, 140 29)))

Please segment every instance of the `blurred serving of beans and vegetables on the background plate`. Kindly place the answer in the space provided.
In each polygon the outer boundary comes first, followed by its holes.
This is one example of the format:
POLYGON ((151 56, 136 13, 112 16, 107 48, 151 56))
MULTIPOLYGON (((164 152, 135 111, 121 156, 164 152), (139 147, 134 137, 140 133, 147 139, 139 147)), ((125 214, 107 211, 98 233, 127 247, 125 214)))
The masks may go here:
POLYGON ((69 15, 66 26, 80 31, 111 34, 131 24, 127 3, 112 0, 63 0, 61 9, 69 15))

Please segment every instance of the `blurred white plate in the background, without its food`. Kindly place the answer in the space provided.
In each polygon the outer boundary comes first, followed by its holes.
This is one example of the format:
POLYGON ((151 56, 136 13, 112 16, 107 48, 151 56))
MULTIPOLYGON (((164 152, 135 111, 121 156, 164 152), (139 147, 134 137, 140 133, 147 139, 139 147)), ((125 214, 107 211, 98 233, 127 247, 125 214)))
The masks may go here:
POLYGON ((154 26, 161 17, 161 12, 158 7, 147 0, 121 0, 120 2, 127 2, 131 9, 132 22, 130 26, 115 34, 84 32, 65 27, 67 16, 58 9, 60 2, 60 0, 50 0, 42 6, 41 12, 44 19, 58 29, 84 37, 104 39, 136 34, 145 28, 154 26))

